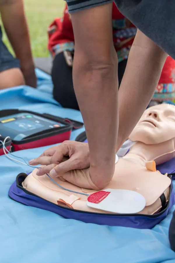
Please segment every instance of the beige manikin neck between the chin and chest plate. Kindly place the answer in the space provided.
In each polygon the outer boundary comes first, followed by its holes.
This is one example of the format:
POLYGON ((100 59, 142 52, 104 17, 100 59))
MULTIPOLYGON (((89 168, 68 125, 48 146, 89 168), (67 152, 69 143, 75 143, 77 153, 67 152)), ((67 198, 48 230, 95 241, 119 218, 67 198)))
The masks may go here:
POLYGON ((175 157, 174 144, 174 139, 158 144, 136 142, 123 158, 144 166, 146 162, 152 160, 155 160, 156 164, 160 164, 175 157))

